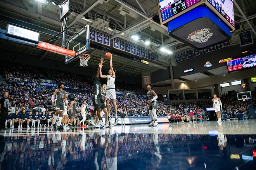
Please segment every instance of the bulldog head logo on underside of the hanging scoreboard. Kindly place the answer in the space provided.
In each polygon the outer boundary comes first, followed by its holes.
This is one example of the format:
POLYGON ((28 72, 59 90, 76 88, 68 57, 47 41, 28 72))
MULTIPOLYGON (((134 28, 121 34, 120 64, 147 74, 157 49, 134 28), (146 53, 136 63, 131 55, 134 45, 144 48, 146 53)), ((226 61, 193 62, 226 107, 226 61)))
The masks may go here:
POLYGON ((213 35, 213 33, 210 32, 210 29, 204 28, 204 29, 194 31, 191 34, 189 34, 188 39, 190 41, 203 43, 203 42, 207 42, 211 38, 212 35, 213 35))

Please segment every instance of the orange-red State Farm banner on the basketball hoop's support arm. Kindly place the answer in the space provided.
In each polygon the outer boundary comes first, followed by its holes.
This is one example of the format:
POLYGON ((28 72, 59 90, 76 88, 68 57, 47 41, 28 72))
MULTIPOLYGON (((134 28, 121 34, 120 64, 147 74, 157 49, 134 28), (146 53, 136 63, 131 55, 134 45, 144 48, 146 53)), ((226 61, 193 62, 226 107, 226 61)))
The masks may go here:
POLYGON ((72 51, 66 48, 62 48, 59 46, 55 46, 53 44, 49 44, 47 42, 39 42, 36 48, 40 48, 46 51, 50 51, 52 53, 61 54, 64 56, 74 57, 76 55, 76 51, 72 51))

